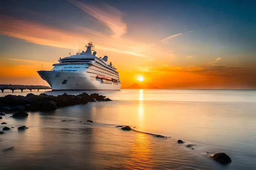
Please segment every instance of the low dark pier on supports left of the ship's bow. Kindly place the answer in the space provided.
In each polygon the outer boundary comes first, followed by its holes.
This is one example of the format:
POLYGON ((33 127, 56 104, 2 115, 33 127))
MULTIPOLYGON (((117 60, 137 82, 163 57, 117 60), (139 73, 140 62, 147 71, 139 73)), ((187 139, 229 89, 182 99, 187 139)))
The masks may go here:
POLYGON ((9 89, 12 91, 14 90, 20 90, 21 92, 23 92, 24 89, 29 89, 30 91, 32 91, 33 89, 37 89, 37 91, 41 90, 41 89, 52 89, 51 87, 49 86, 40 86, 40 85, 30 85, 30 86, 27 86, 27 85, 7 85, 7 84, 0 84, 0 90, 2 91, 2 93, 4 93, 4 90, 5 89, 9 89))

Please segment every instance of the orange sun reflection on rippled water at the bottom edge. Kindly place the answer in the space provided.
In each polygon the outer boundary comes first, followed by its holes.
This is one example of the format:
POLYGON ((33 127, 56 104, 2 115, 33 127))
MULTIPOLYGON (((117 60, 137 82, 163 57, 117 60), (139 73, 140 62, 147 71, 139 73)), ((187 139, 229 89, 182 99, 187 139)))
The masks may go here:
POLYGON ((150 141, 148 135, 138 132, 134 144, 132 144, 129 159, 126 161, 126 169, 154 169, 155 162, 153 161, 152 151, 150 149, 150 141))

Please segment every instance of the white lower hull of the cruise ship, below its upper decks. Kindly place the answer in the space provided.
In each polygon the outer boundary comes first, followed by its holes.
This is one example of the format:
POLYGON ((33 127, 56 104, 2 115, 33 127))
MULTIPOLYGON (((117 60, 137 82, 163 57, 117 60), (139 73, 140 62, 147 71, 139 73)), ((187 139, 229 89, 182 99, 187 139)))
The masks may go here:
POLYGON ((66 73, 58 71, 38 71, 40 77, 56 90, 120 90, 120 82, 103 83, 97 75, 90 73, 66 73), (58 76, 56 76, 58 75, 58 76), (90 76, 91 75, 91 76, 90 76), (91 77, 91 78, 90 78, 91 77), (95 78, 92 78, 95 77, 95 78))

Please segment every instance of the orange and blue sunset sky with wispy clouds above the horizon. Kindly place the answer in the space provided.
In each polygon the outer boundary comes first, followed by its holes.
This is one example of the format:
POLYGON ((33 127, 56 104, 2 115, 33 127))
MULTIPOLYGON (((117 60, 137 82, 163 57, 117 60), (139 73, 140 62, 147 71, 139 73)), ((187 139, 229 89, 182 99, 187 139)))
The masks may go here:
POLYGON ((90 41, 121 88, 256 88, 255 0, 0 0, 0 84, 48 86, 90 41))

